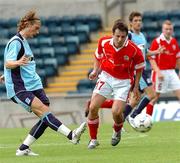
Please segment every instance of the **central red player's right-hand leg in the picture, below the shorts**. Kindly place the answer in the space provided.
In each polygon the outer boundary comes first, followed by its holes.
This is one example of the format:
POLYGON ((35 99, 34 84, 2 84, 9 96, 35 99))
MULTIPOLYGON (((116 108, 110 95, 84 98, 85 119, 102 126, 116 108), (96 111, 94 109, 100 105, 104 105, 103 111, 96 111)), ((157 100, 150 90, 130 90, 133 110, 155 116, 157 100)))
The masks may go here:
POLYGON ((126 103, 121 100, 114 100, 112 107, 112 115, 114 120, 113 125, 113 135, 111 139, 111 145, 116 146, 121 140, 121 129, 123 127, 123 111, 125 109, 126 103))

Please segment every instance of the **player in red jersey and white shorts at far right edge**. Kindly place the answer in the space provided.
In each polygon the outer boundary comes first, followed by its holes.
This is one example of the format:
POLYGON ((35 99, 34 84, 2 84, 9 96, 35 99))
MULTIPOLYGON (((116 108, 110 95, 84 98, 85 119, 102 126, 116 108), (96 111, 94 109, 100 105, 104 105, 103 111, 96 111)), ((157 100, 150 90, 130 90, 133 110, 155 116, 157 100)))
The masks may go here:
POLYGON ((152 81, 156 91, 156 98, 147 106, 147 113, 152 114, 153 106, 161 93, 173 91, 180 100, 180 79, 175 72, 176 65, 180 69, 180 51, 177 40, 172 37, 173 25, 166 20, 162 24, 162 34, 152 41, 150 50, 164 46, 165 51, 149 58, 152 66, 152 81))

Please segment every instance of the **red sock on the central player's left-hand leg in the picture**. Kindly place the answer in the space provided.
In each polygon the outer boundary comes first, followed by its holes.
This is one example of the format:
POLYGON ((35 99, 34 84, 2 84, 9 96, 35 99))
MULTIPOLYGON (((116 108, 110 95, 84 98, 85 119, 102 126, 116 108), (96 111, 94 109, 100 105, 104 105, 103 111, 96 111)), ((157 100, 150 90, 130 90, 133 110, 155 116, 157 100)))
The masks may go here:
POLYGON ((97 139, 97 132, 99 127, 99 117, 97 119, 88 119, 89 134, 91 139, 97 139))

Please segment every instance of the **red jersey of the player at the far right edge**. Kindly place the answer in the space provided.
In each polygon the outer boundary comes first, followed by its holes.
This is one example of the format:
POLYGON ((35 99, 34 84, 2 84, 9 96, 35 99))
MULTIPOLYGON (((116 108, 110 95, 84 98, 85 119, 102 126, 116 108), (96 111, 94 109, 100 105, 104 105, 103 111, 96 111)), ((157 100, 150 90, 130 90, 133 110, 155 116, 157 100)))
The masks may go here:
POLYGON ((154 59, 160 70, 175 69, 176 60, 180 58, 179 46, 175 38, 167 41, 163 34, 152 41, 150 50, 157 50, 160 46, 165 47, 165 52, 149 57, 154 59))

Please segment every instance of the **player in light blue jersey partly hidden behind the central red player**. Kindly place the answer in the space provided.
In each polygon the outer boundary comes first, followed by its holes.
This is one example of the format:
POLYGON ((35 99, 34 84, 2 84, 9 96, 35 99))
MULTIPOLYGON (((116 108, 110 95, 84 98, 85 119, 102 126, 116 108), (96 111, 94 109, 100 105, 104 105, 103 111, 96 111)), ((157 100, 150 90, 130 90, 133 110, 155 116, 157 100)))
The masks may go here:
MULTIPOLYGON (((159 54, 159 52, 164 50, 164 47, 160 47, 156 51, 150 51, 147 47, 147 41, 144 36, 144 34, 141 32, 142 28, 142 15, 139 12, 132 12, 129 15, 129 23, 130 23, 130 32, 129 32, 129 38, 141 49, 141 51, 144 54, 145 60, 147 60, 148 56, 159 54)), ((132 114, 129 116, 129 122, 132 127, 133 125, 133 118, 135 118, 138 114, 141 113, 141 111, 147 106, 147 104, 155 98, 155 92, 152 86, 151 82, 151 70, 146 67, 142 73, 141 79, 140 79, 140 91, 144 94, 144 96, 140 99, 134 99, 133 95, 130 96, 129 104, 127 104, 125 109, 125 115, 126 117, 132 109, 137 105, 136 109, 132 112, 132 114), (132 122, 132 123, 131 123, 132 122)))

